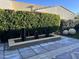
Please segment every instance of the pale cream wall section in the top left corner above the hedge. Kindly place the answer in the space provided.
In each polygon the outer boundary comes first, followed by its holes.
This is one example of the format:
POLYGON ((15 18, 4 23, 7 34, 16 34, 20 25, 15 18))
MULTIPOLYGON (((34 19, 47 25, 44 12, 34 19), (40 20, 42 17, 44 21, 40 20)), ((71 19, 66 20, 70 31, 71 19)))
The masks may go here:
POLYGON ((12 1, 10 1, 10 0, 0 0, 0 8, 1 9, 11 9, 12 8, 11 3, 12 3, 12 1))

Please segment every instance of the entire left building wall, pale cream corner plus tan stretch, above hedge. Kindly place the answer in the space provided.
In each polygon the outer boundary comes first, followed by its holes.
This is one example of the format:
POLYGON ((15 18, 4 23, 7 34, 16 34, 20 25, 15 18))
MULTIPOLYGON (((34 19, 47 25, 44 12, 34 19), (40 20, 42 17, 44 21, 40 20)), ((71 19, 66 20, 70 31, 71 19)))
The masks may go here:
POLYGON ((29 6, 33 6, 33 10, 36 8, 41 8, 42 6, 24 3, 24 2, 17 2, 16 0, 0 0, 0 9, 12 9, 12 10, 19 10, 19 11, 31 11, 29 6))

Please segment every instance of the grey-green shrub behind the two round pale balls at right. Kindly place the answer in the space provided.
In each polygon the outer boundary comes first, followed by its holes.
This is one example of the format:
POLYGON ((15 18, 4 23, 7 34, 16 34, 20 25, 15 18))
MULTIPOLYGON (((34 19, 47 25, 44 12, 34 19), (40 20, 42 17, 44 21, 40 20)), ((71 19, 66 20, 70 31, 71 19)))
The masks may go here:
POLYGON ((68 30, 70 28, 74 28, 78 24, 79 24, 79 20, 77 20, 77 19, 67 20, 67 21, 62 20, 61 21, 61 28, 62 28, 62 30, 64 30, 64 29, 68 30))

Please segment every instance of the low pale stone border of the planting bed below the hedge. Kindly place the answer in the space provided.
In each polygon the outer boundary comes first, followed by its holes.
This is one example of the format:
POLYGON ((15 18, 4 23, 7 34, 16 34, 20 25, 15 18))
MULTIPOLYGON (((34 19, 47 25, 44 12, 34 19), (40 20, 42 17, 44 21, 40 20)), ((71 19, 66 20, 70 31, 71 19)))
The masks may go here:
POLYGON ((41 39, 35 39, 35 40, 29 40, 29 41, 22 41, 22 42, 15 42, 15 40, 20 40, 21 38, 13 38, 8 40, 9 48, 19 48, 19 47, 25 47, 25 46, 33 46, 36 44, 41 44, 49 41, 54 41, 56 39, 61 38, 59 35, 54 35, 52 37, 46 37, 41 39))

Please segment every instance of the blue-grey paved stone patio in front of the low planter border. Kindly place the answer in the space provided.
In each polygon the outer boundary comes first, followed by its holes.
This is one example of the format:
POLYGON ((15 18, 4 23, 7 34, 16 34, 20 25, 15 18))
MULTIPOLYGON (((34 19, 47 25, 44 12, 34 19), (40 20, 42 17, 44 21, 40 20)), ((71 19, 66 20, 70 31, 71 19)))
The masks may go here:
POLYGON ((10 50, 0 43, 0 59, 79 59, 79 40, 61 40, 10 50))

